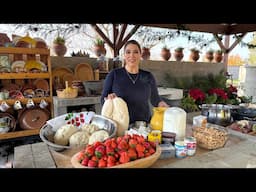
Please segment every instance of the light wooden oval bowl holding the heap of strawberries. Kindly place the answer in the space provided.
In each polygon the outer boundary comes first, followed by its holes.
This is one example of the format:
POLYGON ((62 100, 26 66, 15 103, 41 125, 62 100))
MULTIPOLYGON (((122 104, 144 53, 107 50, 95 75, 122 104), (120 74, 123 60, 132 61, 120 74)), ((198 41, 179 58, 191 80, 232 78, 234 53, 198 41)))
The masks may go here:
MULTIPOLYGON (((83 166, 81 163, 79 163, 77 160, 78 155, 79 155, 79 152, 76 153, 71 158, 71 163, 72 163, 73 167, 74 168, 91 168, 91 167, 83 166)), ((160 155, 161 155, 161 148, 159 146, 157 146, 156 152, 153 155, 150 155, 148 157, 138 159, 135 161, 131 161, 128 163, 116 165, 113 167, 108 167, 108 168, 148 168, 157 161, 157 159, 160 157, 160 155)))

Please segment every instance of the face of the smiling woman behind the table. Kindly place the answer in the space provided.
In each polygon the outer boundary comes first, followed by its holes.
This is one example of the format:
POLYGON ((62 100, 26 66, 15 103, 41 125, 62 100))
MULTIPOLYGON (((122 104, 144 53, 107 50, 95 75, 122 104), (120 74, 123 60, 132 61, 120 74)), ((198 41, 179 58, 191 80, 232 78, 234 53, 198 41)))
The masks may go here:
POLYGON ((138 66, 140 63, 141 53, 137 45, 128 44, 124 52, 124 59, 126 65, 129 67, 138 66))

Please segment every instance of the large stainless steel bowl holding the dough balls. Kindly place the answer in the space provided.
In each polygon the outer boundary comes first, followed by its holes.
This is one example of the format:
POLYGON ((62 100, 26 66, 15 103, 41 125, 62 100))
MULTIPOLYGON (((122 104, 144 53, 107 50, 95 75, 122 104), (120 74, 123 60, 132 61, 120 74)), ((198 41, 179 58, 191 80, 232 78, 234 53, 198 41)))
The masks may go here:
MULTIPOLYGON (((91 124, 97 125, 100 129, 104 129, 109 133, 108 138, 116 136, 117 133, 117 124, 101 115, 94 115, 92 118, 91 124)), ((60 128, 60 127, 59 127, 60 128)), ((58 145, 54 143, 54 135, 57 130, 53 130, 52 126, 45 124, 41 129, 39 136, 44 143, 46 143, 50 148, 55 151, 63 151, 65 149, 71 149, 71 146, 58 145)))

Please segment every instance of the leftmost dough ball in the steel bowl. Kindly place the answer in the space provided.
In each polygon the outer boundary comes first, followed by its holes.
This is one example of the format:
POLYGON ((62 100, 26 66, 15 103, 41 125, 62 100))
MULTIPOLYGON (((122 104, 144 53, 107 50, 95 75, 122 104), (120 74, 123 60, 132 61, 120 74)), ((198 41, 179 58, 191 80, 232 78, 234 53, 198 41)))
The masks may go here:
POLYGON ((56 131, 54 143, 58 145, 68 145, 69 138, 77 131, 78 129, 74 125, 63 125, 56 131))

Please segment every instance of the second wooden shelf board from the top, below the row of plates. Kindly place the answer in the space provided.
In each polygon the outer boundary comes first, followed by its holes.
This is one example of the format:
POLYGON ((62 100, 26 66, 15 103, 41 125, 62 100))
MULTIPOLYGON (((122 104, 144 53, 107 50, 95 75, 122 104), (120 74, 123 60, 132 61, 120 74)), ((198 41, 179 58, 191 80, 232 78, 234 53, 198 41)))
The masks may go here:
POLYGON ((1 79, 48 79, 50 74, 46 73, 0 73, 1 79))

